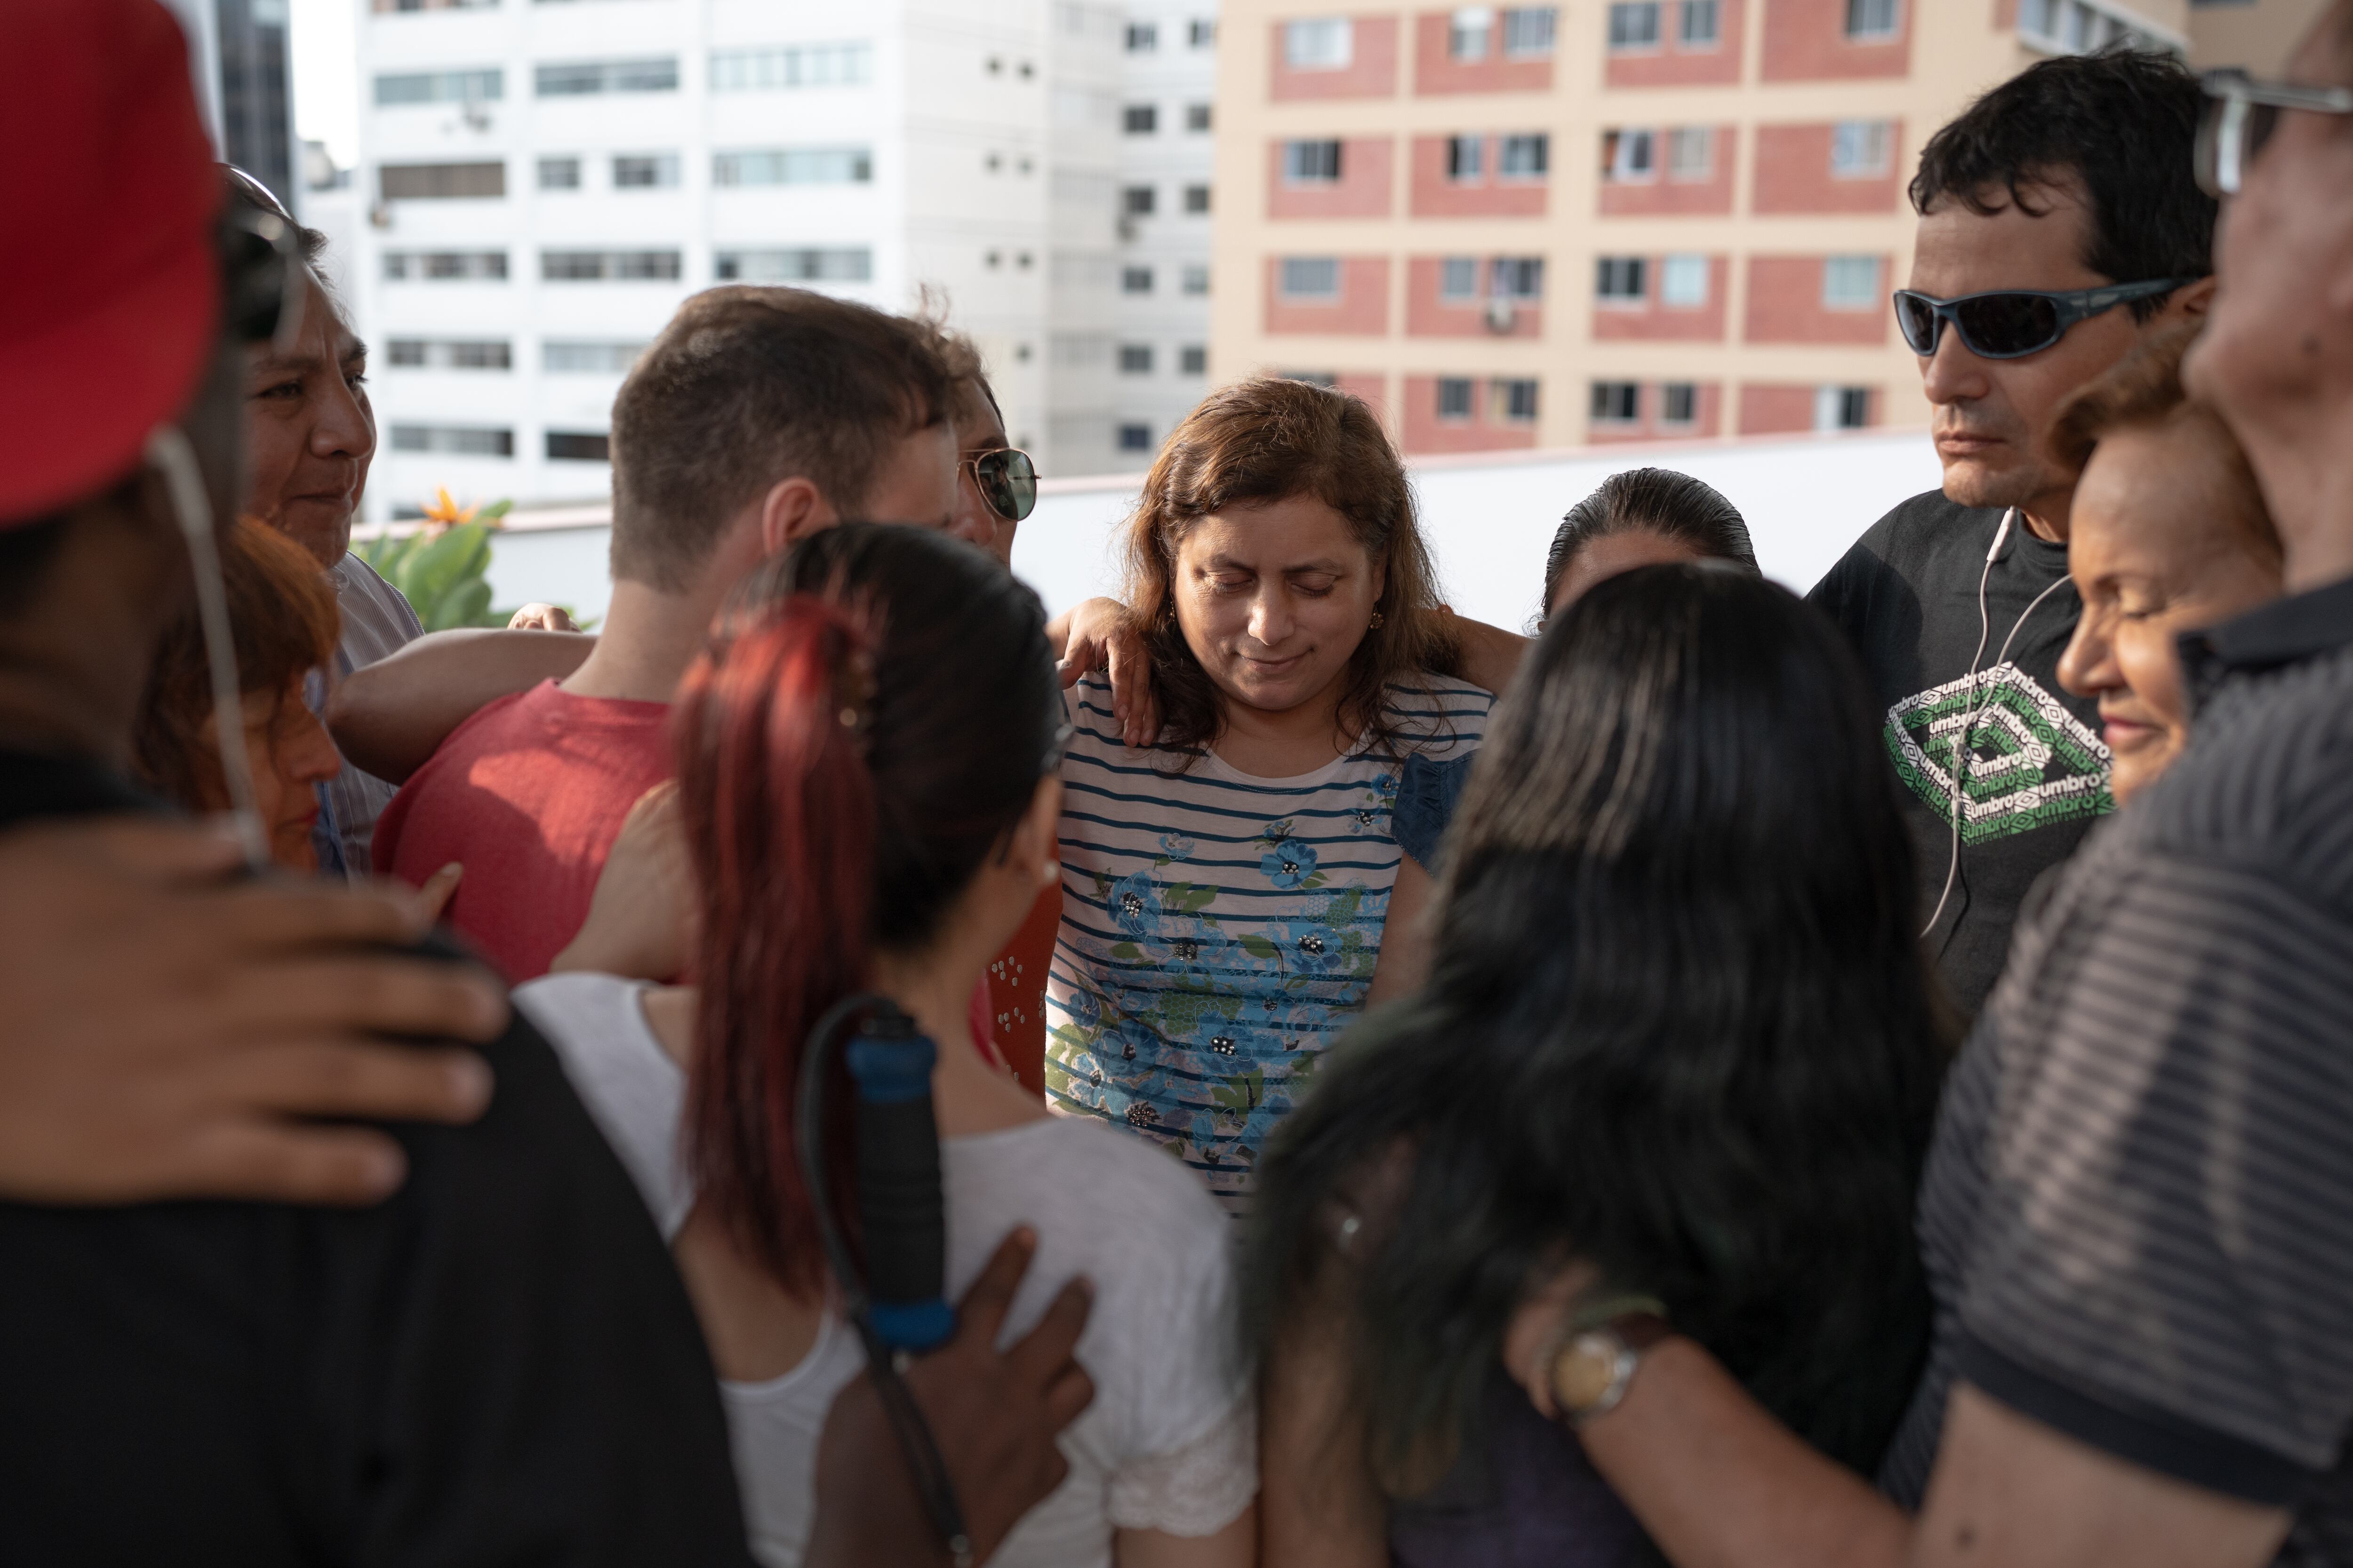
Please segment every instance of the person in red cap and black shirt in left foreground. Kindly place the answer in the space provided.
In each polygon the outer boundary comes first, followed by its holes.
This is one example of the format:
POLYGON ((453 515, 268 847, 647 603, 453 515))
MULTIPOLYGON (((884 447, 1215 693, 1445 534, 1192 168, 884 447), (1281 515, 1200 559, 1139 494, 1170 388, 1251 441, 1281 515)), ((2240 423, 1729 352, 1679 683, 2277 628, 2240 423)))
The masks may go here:
MULTIPOLYGON (((0 141, 40 148, 0 162, 40 214, 0 249, 0 1561, 746 1563, 692 1307, 548 1046, 405 898, 240 879, 122 780, 191 588, 228 644, 216 527, 287 230, 221 221, 153 0, 0 7, 0 141)), ((995 1347, 1024 1265, 1007 1241, 908 1373, 981 1554, 1087 1399, 1082 1291, 995 1347)), ((859 1385, 812 1563, 946 1561, 892 1443, 859 1385)))

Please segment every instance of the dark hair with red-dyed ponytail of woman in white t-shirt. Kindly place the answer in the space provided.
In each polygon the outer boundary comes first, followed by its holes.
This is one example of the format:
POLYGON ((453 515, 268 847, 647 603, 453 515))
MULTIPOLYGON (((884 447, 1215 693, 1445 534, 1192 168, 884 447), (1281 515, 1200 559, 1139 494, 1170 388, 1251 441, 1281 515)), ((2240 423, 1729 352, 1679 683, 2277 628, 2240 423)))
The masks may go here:
MULTIPOLYGON (((1061 689, 1038 595, 927 529, 840 524, 767 562, 673 710, 704 893, 687 1159, 788 1291, 826 1281, 793 1135, 809 1030, 929 943, 1052 766, 1061 689)), ((826 1185, 856 1246, 849 1072, 826 1185)))

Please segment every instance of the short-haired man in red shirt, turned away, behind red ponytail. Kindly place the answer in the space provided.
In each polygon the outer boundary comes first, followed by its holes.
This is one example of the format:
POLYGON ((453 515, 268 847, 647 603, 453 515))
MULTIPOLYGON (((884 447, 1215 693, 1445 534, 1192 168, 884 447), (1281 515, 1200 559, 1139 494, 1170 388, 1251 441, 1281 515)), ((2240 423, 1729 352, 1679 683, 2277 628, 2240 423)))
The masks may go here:
POLYGON ((951 378, 922 322, 802 289, 687 301, 614 400, 595 649, 442 741, 386 806, 376 870, 424 884, 461 863, 449 924, 511 983, 546 973, 628 809, 671 776, 671 693, 736 583, 842 517, 953 522, 951 378))

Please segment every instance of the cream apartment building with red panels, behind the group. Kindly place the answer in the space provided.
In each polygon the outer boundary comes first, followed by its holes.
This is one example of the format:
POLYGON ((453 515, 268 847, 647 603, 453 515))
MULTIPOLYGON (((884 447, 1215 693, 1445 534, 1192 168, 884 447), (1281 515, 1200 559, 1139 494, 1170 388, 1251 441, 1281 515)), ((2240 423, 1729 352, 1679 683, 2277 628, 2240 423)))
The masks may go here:
POLYGON ((1224 0, 1212 364, 1414 454, 1918 425, 1922 139, 2040 56, 2315 5, 1224 0))

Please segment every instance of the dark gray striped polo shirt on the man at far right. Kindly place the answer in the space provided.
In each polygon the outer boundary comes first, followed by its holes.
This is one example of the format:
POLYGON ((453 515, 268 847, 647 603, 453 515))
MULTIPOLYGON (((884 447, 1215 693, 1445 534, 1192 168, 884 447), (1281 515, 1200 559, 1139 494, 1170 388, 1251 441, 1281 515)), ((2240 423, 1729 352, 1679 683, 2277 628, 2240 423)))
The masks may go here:
POLYGON ((2038 889, 1920 1194, 1955 1378, 2353 1563, 2353 581, 2184 639, 2191 748, 2038 889))

